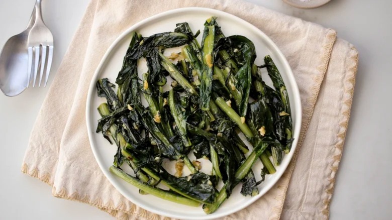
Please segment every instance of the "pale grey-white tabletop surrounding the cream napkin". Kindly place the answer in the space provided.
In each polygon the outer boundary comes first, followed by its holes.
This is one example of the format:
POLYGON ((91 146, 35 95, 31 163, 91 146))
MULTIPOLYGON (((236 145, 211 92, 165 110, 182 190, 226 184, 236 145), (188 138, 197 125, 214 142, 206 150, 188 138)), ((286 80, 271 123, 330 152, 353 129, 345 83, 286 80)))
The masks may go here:
MULTIPOLYGON (((250 2, 333 28, 358 49, 351 120, 330 216, 390 219, 392 2, 332 0, 314 10, 295 9, 279 0, 250 2)), ((51 79, 87 4, 88 0, 43 1, 43 17, 55 39, 51 79)), ((24 30, 33 5, 33 0, 0 1, 0 47, 24 30)), ((0 219, 112 219, 95 207, 54 198, 48 185, 21 173, 30 132, 47 90, 27 89, 16 97, 0 94, 0 219)))

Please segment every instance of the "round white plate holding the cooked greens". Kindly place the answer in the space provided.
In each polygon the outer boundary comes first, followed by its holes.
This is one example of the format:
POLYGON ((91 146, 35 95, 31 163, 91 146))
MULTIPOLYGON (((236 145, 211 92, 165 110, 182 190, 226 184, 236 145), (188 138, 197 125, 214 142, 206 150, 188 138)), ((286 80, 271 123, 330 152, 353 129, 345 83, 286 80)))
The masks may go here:
MULTIPOLYGON (((225 12, 205 8, 184 8, 164 12, 150 17, 135 24, 118 37, 118 39, 106 52, 94 76, 92 77, 86 103, 86 121, 91 149, 97 163, 113 186, 116 187, 116 189, 119 190, 126 198, 136 205, 160 215, 181 219, 210 219, 231 214, 248 206, 264 195, 280 178, 290 162, 297 146, 301 128, 301 102, 296 81, 286 59, 271 39, 269 39, 263 32, 248 22, 225 12), (291 152, 284 156, 281 165, 277 167, 276 173, 273 175, 267 175, 266 180, 259 185, 260 193, 257 196, 242 196, 240 194, 240 184, 233 190, 232 196, 230 196, 230 198, 227 199, 215 213, 206 215, 201 206, 188 207, 170 201, 165 201, 152 195, 141 195, 136 187, 115 177, 109 172, 109 167, 113 164, 113 156, 116 153, 117 148, 115 146, 110 146, 101 134, 95 133, 97 120, 101 118, 97 113, 96 108, 99 104, 106 101, 104 98, 97 97, 95 82, 97 79, 104 77, 108 77, 112 82, 115 81, 117 73, 121 69, 123 57, 126 53, 129 42, 131 41, 132 32, 137 31, 143 36, 149 36, 160 32, 173 31, 175 24, 181 22, 188 22, 193 32, 196 32, 199 29, 203 30, 205 20, 211 16, 218 17, 218 24, 222 27, 226 36, 235 34, 244 35, 253 41, 258 55, 256 59, 257 64, 263 64, 263 57, 267 54, 272 57, 282 74, 284 82, 286 83, 291 102, 294 127, 293 137, 295 138, 295 141, 292 144, 291 152)), ((261 167, 261 162, 258 161, 253 168, 257 178, 259 178, 261 167)), ((208 164, 203 166, 203 170, 208 168, 208 164)))

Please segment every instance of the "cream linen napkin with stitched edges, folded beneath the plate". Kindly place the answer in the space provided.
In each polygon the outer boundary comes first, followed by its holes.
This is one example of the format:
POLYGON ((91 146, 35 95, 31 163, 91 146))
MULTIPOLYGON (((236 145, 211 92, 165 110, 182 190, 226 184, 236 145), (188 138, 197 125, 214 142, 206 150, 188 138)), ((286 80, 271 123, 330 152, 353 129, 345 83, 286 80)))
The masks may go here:
POLYGON ((22 172, 56 197, 122 219, 162 219, 123 197, 92 155, 85 123, 89 82, 112 42, 142 19, 183 7, 236 15, 266 33, 287 58, 303 105, 295 156, 282 178, 252 205, 225 219, 326 219, 342 154, 358 53, 336 32, 239 0, 91 1, 34 125, 22 172), (143 12, 143 13, 140 13, 143 12))

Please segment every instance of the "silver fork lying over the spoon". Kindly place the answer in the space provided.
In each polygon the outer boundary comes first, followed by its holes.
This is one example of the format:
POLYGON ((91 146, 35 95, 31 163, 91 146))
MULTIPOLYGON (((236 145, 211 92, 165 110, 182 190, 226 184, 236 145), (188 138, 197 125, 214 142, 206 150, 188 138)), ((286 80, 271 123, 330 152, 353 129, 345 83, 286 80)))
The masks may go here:
POLYGON ((28 38, 28 80, 27 87, 29 87, 32 72, 33 87, 35 86, 38 70, 40 70, 38 87, 41 86, 44 71, 45 85, 48 83, 50 68, 53 60, 53 35, 46 27, 41 15, 41 0, 37 0, 35 4, 35 22, 28 38), (34 56, 33 56, 34 54, 34 56), (34 63, 34 66, 33 66, 34 63), (46 68, 45 68, 46 67, 46 68))

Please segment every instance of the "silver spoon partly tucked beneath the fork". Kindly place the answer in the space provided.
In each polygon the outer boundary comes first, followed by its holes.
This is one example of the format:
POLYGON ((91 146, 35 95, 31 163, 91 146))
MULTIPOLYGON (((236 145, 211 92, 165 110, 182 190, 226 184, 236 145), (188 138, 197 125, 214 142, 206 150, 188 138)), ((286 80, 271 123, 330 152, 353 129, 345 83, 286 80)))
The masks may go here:
POLYGON ((15 96, 27 88, 27 39, 35 22, 35 7, 26 30, 8 39, 0 53, 0 89, 15 96))

